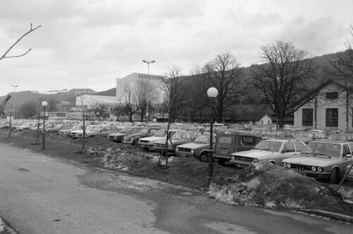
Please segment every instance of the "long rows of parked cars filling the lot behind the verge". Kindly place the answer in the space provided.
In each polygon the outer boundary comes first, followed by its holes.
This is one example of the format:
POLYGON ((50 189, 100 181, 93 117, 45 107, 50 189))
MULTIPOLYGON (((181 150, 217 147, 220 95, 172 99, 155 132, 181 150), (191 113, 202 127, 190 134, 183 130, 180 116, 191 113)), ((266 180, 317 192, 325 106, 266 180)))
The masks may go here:
MULTIPOLYGON (((61 123, 52 128, 47 125, 45 129, 47 133, 73 139, 83 137, 82 123, 68 126, 61 123)), ((214 147, 210 149, 207 126, 174 124, 169 130, 165 127, 156 123, 90 124, 86 126, 84 137, 106 137, 113 142, 133 144, 160 154, 192 156, 203 162, 208 162, 209 155, 213 155, 212 160, 222 166, 234 164, 244 168, 253 161, 266 160, 306 176, 328 179, 330 183, 338 183, 353 164, 351 133, 328 135, 324 130, 270 130, 271 134, 265 134, 266 130, 220 126, 213 134, 214 147)), ((353 170, 347 174, 347 179, 353 180, 353 170)))

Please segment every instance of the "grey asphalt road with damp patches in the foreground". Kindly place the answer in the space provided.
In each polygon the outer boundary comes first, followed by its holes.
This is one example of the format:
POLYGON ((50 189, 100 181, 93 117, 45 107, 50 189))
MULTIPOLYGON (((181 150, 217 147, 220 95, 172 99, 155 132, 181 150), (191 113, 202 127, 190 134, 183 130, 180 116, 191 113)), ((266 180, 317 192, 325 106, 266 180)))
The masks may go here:
POLYGON ((0 216, 19 233, 36 234, 353 233, 347 223, 222 204, 185 187, 5 144, 0 144, 0 216))

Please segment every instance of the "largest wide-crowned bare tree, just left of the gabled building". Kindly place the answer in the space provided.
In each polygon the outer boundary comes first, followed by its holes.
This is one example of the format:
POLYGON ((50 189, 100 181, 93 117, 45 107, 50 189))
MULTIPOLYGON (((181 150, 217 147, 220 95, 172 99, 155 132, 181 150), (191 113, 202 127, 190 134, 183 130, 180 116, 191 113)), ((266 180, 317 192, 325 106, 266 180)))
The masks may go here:
POLYGON ((283 127, 291 115, 317 94, 317 66, 308 53, 290 42, 277 41, 261 47, 262 64, 251 66, 252 85, 283 127), (313 84, 313 85, 310 85, 313 84))

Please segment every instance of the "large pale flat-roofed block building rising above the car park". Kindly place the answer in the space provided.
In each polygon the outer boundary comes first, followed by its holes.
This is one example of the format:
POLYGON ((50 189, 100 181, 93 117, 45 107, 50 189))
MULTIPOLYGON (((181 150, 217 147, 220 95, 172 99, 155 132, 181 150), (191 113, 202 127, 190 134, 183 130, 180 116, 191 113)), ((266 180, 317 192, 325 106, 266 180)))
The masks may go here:
POLYGON ((131 73, 124 78, 116 78, 116 99, 120 100, 124 95, 125 85, 138 81, 139 79, 149 80, 153 85, 160 87, 162 90, 162 75, 151 75, 144 73, 131 73))

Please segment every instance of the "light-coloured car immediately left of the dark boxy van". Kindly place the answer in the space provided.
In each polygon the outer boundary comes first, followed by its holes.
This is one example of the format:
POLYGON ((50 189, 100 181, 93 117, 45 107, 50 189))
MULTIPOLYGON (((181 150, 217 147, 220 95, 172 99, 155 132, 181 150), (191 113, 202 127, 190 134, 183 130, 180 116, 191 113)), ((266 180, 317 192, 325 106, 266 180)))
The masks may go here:
MULTIPOLYGON (((213 135, 213 146, 216 142, 216 135, 213 135)), ((177 146, 177 156, 193 156, 203 162, 208 162, 208 152, 210 149, 210 133, 198 135, 193 142, 180 144, 177 146)))

